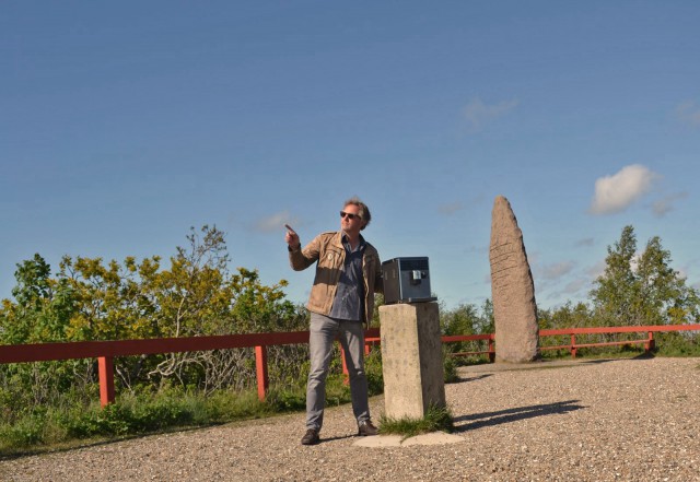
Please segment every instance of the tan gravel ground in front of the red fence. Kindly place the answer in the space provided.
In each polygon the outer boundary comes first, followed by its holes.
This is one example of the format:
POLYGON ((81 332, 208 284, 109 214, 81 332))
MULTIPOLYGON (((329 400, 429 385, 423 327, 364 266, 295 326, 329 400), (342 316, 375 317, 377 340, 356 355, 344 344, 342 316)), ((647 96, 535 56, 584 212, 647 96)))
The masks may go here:
MULTIPOLYGON (((2 481, 700 481, 700 358, 460 368, 450 445, 358 447, 349 407, 322 444, 303 414, 0 462, 2 481)), ((383 398, 372 399, 375 420, 383 398)))

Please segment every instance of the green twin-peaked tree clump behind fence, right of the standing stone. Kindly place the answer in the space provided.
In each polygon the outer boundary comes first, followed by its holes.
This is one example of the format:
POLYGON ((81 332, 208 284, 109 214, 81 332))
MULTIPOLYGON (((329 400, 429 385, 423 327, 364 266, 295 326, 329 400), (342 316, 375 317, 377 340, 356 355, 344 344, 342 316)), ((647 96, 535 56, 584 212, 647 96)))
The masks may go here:
POLYGON ((654 236, 637 256, 634 228, 625 226, 620 239, 608 246, 605 272, 591 297, 600 325, 669 325, 697 322, 700 297, 670 267, 670 252, 654 236))

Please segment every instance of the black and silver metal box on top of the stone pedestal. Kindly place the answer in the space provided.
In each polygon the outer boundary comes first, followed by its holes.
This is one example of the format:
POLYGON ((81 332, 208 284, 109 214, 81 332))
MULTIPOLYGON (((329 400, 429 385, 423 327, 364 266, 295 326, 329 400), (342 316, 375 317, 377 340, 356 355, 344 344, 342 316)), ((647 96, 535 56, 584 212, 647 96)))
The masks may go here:
POLYGON ((434 302, 430 293, 428 258, 394 258, 382 263, 384 303, 434 302))

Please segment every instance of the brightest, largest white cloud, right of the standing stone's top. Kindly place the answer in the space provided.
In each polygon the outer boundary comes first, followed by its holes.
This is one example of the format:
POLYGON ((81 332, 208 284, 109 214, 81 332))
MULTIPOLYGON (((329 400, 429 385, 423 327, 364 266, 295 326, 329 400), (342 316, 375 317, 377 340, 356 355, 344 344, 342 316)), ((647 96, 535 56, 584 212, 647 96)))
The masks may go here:
POLYGON ((614 214, 625 211, 646 195, 661 176, 640 164, 632 164, 612 176, 596 179, 592 214, 614 214))

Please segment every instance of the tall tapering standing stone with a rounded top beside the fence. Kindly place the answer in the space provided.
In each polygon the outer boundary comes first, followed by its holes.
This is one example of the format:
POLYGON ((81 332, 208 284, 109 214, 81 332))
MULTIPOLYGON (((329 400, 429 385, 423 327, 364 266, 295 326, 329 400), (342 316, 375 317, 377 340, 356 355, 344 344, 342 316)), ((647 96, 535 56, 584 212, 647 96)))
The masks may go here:
POLYGON ((527 262, 523 232, 511 203, 503 196, 491 215, 491 296, 495 321, 495 361, 532 362, 537 358, 539 327, 535 283, 527 262))

